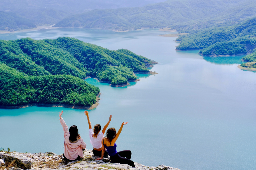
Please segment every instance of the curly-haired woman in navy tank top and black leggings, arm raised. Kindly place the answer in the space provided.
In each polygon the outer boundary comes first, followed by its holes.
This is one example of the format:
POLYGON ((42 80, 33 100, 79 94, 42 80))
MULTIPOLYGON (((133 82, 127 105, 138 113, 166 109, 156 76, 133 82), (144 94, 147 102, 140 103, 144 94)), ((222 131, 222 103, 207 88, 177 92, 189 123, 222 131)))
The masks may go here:
POLYGON ((106 137, 104 137, 101 141, 101 144, 102 144, 101 158, 97 158, 96 160, 103 159, 105 148, 106 148, 112 163, 128 164, 132 167, 135 167, 134 162, 131 160, 132 152, 130 150, 123 150, 120 152, 116 151, 115 142, 123 129, 123 125, 126 125, 127 123, 128 122, 125 122, 125 123, 123 122, 117 133, 115 128, 109 128, 107 130, 106 137))

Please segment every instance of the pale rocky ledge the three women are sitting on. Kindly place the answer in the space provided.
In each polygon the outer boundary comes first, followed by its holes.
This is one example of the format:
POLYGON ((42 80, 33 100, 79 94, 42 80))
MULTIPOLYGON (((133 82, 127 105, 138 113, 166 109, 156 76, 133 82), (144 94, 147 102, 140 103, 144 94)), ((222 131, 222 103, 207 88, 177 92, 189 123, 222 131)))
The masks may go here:
POLYGON ((172 168, 165 165, 159 165, 158 167, 148 167, 135 162, 136 168, 133 168, 126 164, 111 163, 108 158, 103 160, 95 160, 98 158, 94 156, 92 150, 84 151, 84 158, 78 161, 66 162, 63 160, 62 155, 56 155, 52 152, 47 153, 19 153, 19 152, 0 152, 0 159, 5 161, 5 164, 0 164, 0 170, 22 170, 32 169, 32 170, 180 170, 178 168, 172 168), (26 167, 21 165, 19 161, 14 159, 10 162, 9 158, 20 159, 26 163, 26 167), (9 159, 9 160, 8 160, 9 159), (30 164, 30 165, 29 165, 30 164), (21 166, 21 167, 20 167, 21 166))

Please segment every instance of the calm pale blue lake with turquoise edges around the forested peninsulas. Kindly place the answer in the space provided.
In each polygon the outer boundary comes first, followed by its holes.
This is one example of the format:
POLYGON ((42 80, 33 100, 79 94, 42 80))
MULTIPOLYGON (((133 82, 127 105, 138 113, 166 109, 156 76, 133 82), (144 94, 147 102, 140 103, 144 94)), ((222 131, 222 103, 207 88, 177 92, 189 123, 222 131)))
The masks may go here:
MULTIPOLYGON (((137 74, 140 81, 100 88, 100 105, 89 111, 93 125, 124 126, 117 150, 130 149, 132 160, 181 170, 254 170, 256 167, 256 74, 242 71, 242 56, 202 57, 198 51, 175 51, 176 38, 157 30, 115 33, 104 30, 50 29, 1 34, 2 40, 74 37, 111 50, 129 49, 156 64, 157 75, 137 74)), ((19 152, 62 154, 59 112, 92 149, 83 110, 28 107, 0 109, 0 147, 19 152)))

